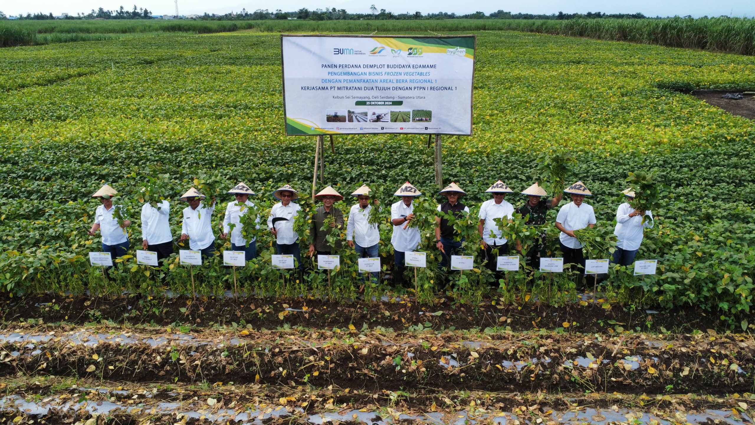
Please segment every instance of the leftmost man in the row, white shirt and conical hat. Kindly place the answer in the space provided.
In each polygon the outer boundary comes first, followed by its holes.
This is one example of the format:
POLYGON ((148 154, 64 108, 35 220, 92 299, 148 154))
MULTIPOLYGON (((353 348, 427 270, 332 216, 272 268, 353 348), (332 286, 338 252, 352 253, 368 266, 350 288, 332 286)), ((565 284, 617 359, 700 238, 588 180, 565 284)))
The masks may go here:
POLYGON ((116 213, 116 208, 122 208, 122 206, 112 204, 112 197, 116 196, 117 193, 109 185, 104 185, 99 191, 94 192, 92 197, 100 198, 102 205, 97 206, 94 211, 94 223, 88 231, 90 236, 94 236, 94 232, 100 231, 102 252, 110 253, 110 258, 113 261, 126 255, 129 247, 126 228, 131 225, 131 220, 124 219, 121 225, 118 223, 118 219, 113 216, 116 213))

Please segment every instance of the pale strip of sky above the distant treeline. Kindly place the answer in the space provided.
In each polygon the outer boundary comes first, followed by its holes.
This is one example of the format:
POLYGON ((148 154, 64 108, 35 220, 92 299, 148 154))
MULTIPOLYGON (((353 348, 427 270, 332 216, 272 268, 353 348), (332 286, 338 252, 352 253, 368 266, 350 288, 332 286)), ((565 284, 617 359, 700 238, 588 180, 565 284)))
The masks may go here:
MULTIPOLYGON (((27 12, 52 12, 60 15, 63 12, 76 14, 87 12, 91 9, 103 7, 115 10, 123 5, 127 9, 134 7, 147 8, 154 14, 173 14, 175 10, 174 0, 29 0, 27 2, 0 2, 0 11, 8 15, 26 14, 27 12)), ((647 16, 673 16, 692 15, 720 16, 729 15, 737 17, 755 17, 755 0, 635 0, 633 2, 606 2, 605 0, 529 0, 529 2, 513 2, 510 0, 470 0, 458 2, 458 0, 257 0, 245 2, 244 0, 178 0, 180 14, 202 14, 204 12, 224 14, 230 11, 247 11, 268 9, 274 11, 294 11, 300 8, 314 10, 316 8, 346 9, 349 12, 368 13, 370 5, 378 9, 386 9, 393 13, 415 11, 427 12, 455 12, 456 14, 468 14, 475 11, 483 11, 489 14, 503 9, 514 13, 554 14, 559 11, 565 13, 584 13, 587 11, 601 11, 608 13, 635 13, 642 12, 647 16)))

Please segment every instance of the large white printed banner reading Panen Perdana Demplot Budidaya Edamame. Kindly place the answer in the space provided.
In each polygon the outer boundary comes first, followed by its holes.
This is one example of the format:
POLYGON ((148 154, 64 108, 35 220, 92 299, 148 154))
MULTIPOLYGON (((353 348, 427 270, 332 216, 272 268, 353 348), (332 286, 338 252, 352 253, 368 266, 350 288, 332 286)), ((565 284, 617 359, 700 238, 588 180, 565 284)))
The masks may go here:
POLYGON ((475 36, 281 36, 287 135, 472 134, 475 36))

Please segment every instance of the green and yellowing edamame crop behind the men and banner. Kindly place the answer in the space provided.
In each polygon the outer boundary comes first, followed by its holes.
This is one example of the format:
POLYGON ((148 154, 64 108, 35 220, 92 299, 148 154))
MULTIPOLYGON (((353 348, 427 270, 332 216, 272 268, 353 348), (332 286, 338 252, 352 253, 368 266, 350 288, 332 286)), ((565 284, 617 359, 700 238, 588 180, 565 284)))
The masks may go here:
MULTIPOLYGON (((67 262, 82 261, 71 258, 90 249, 79 228, 91 224, 97 203, 88 196, 103 182, 133 196, 145 176, 167 173, 175 200, 197 172, 217 170, 229 188, 243 180, 268 201, 286 182, 310 189, 315 138, 285 136, 276 34, 5 48, 0 64, 5 290, 43 288, 67 262)), ((646 290, 667 306, 746 311, 755 265, 752 123, 656 87, 753 88, 753 65, 735 54, 479 32, 473 135, 443 138, 445 181, 479 204, 498 178, 515 191, 528 187, 537 155, 566 148, 578 157, 575 179, 595 195, 587 202, 610 225, 627 172, 658 171, 672 191, 638 255, 663 265, 646 290)), ((348 194, 362 181, 397 188, 411 179, 436 191, 426 142, 337 136, 325 184, 348 194)), ((182 207, 174 203, 174 229, 182 207)), ((140 232, 131 231, 134 247, 140 232)))

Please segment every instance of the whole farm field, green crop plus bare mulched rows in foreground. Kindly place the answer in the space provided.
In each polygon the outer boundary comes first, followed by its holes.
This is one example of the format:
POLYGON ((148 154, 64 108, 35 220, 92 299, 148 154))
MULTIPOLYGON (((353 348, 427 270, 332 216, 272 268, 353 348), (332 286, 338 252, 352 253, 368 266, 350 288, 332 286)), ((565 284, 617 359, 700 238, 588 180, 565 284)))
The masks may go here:
POLYGON ((238 181, 263 217, 276 188, 300 191, 306 252, 316 143, 285 136, 279 46, 224 33, 0 49, 0 423, 752 423, 755 130, 671 88, 752 90, 755 57, 479 32, 473 135, 442 138, 444 182, 467 191, 471 214, 455 225, 474 270, 437 268, 442 198, 419 135, 336 136, 317 182, 376 190, 383 277, 393 191, 409 180, 423 192, 428 267, 408 287, 365 283, 345 244, 331 274, 306 256, 304 275, 273 268, 265 228, 245 267, 216 256, 187 268, 175 254, 138 265, 148 192, 171 201, 176 239, 178 197, 213 192, 217 235, 238 181), (553 194, 538 158, 557 155, 592 191, 602 241, 628 173, 660 176, 637 254, 658 260, 656 275, 612 266, 593 293, 573 272, 495 281, 481 267, 485 190, 500 178, 514 206, 533 181, 553 194), (82 231, 103 183, 134 219, 131 250, 106 274, 88 263, 99 235, 82 231))

